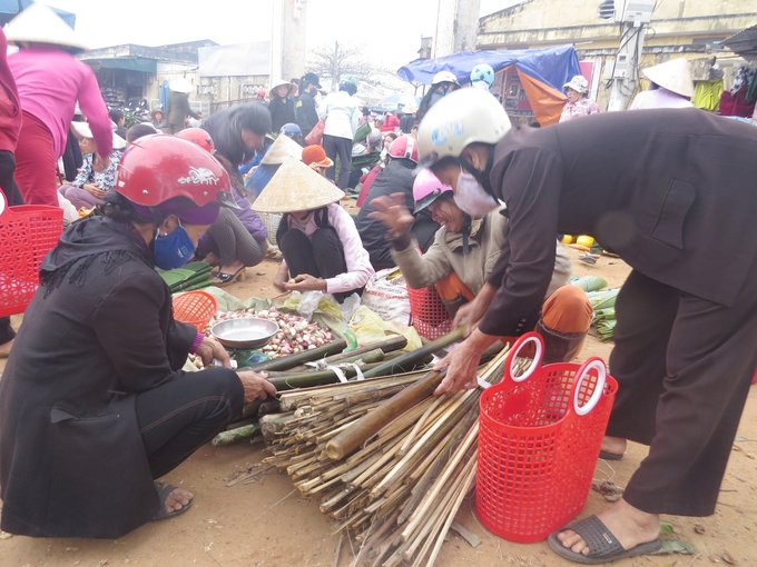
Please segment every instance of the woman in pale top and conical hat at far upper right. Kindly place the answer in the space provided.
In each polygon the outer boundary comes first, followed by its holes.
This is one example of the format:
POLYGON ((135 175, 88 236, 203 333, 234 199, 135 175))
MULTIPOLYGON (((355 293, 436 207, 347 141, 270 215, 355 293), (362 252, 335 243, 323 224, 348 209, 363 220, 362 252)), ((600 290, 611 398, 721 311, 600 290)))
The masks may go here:
POLYGON ((639 92, 629 110, 647 108, 691 108, 694 97, 694 80, 686 59, 678 58, 665 63, 648 67, 641 71, 649 82, 650 90, 639 92))

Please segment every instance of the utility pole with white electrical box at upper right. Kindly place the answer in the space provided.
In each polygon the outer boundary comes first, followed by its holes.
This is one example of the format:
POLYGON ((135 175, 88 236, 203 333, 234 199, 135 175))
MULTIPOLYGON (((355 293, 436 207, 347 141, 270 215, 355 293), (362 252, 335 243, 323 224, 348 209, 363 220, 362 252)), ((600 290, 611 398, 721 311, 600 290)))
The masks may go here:
POLYGON ((610 112, 626 110, 639 84, 639 59, 655 3, 656 0, 604 0, 599 6, 601 19, 621 24, 620 47, 611 68, 610 112))

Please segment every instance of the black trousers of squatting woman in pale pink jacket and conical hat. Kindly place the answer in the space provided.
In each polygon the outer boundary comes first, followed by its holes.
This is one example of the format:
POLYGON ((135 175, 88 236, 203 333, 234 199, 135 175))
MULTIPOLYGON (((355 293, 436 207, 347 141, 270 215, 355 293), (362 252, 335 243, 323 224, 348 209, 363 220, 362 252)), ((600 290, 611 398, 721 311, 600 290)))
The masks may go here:
MULTIPOLYGON (((289 229, 278 240, 278 248, 293 278, 307 273, 328 279, 347 271, 342 242, 331 228, 319 228, 309 238, 302 230, 289 229)), ((334 294, 334 299, 341 304, 354 292, 362 289, 334 294)))

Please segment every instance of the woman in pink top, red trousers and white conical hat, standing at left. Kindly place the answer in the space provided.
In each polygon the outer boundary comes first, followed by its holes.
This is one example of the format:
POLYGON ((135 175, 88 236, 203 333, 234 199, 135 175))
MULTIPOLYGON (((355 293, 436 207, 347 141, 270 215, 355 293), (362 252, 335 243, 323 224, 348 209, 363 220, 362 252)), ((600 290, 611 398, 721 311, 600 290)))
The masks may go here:
POLYGON ((77 99, 97 147, 96 172, 108 168, 112 153, 108 109, 91 68, 72 54, 87 47, 50 8, 31 4, 11 20, 6 36, 21 48, 8 57, 23 109, 16 182, 27 205, 58 207, 56 168, 66 150, 77 99))

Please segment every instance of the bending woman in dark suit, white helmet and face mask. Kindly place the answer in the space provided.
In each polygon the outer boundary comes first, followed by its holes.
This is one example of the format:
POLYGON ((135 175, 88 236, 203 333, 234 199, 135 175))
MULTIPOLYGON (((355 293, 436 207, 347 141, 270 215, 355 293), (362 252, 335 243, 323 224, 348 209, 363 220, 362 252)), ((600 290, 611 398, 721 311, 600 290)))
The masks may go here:
POLYGON ((471 387, 491 344, 533 328, 558 232, 596 236, 632 268, 603 448, 630 439, 649 456, 618 503, 552 534, 552 549, 609 563, 659 549, 660 514, 714 514, 757 367, 757 130, 696 109, 511 129, 491 96, 463 89, 425 116, 419 150, 463 210, 502 200, 510 217, 486 285, 458 312, 478 328, 440 365, 440 392, 471 387))

